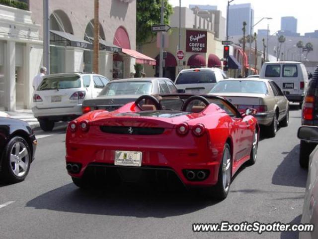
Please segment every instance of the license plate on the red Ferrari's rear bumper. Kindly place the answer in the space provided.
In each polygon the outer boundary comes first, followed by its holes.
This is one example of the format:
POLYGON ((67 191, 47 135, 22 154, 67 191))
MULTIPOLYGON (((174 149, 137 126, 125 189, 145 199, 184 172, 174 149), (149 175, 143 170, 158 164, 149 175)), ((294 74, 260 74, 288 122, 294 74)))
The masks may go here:
POLYGON ((115 165, 141 167, 142 152, 115 151, 115 165))

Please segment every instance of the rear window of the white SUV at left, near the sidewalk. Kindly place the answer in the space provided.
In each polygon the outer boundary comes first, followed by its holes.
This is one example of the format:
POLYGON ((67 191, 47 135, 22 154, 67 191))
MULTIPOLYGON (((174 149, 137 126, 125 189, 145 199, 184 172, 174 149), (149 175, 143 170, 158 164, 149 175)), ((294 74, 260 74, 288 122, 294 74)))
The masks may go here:
POLYGON ((44 78, 38 87, 38 91, 80 88, 79 76, 59 76, 44 78))

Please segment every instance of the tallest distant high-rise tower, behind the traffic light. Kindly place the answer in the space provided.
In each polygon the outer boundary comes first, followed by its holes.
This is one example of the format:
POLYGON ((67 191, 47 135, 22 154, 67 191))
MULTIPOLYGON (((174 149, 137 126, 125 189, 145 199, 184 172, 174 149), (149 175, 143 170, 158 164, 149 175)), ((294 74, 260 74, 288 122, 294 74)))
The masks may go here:
POLYGON ((229 7, 229 36, 243 35, 243 22, 246 22, 246 35, 250 34, 250 26, 254 25, 254 9, 250 3, 233 4, 229 7))

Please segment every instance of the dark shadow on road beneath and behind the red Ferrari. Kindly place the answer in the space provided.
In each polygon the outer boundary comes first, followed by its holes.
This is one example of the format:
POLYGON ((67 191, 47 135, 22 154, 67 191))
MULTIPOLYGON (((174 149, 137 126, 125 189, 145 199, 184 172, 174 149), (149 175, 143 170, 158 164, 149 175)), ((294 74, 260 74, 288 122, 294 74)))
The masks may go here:
POLYGON ((184 215, 212 206, 194 192, 150 192, 124 187, 80 190, 73 183, 54 189, 27 202, 27 207, 82 214, 165 218, 184 215))

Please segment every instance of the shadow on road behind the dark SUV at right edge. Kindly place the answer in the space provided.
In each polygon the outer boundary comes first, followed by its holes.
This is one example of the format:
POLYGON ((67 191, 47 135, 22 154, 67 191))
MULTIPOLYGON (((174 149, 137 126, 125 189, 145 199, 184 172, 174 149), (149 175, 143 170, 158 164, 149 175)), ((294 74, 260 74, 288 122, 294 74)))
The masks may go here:
POLYGON ((299 144, 290 152, 283 152, 282 154, 286 154, 286 157, 274 172, 272 183, 305 188, 308 171, 302 169, 299 165, 299 144))

